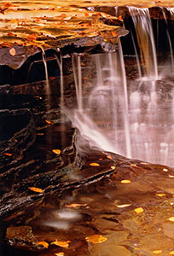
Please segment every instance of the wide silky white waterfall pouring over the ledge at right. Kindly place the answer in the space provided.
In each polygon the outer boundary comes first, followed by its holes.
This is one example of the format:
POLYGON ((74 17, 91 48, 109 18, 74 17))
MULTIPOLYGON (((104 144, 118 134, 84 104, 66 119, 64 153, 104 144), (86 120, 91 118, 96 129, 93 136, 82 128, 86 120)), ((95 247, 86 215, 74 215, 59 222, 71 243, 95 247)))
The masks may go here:
POLYGON ((83 56, 73 56, 77 107, 69 115, 80 133, 76 146, 85 152, 90 144, 128 158, 174 166, 173 82, 167 89, 165 74, 159 73, 148 9, 129 10, 141 48, 139 61, 134 44, 137 79, 126 78, 120 43, 118 52, 88 56, 92 78, 81 65, 83 56))

